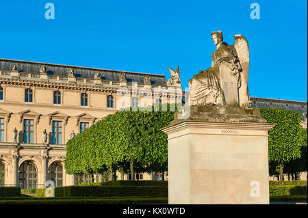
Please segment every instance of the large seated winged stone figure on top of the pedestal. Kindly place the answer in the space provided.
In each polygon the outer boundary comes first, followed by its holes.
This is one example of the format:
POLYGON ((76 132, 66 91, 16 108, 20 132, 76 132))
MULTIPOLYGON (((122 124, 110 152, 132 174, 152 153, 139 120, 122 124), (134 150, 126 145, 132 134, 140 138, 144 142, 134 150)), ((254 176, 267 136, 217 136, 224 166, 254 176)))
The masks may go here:
POLYGON ((222 31, 211 33, 216 51, 211 55, 211 67, 200 70, 188 81, 191 105, 248 106, 248 42, 235 35, 235 43, 222 42, 222 31))

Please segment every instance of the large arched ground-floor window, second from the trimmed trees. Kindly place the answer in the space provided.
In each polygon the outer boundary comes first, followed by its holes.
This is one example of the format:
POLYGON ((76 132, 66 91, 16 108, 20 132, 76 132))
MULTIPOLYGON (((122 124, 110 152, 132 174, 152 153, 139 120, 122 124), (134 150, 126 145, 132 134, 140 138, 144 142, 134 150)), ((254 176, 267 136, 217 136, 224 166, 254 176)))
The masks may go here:
POLYGON ((38 184, 38 171, 31 161, 25 161, 19 167, 18 184, 21 189, 36 189, 38 184))

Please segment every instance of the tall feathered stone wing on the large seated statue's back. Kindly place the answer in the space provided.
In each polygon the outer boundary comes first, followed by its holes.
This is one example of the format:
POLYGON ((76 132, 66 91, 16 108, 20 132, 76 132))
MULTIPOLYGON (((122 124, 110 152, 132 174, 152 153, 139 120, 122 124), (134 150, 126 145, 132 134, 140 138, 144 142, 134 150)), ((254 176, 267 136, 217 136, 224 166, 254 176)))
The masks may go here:
POLYGON ((240 95, 240 106, 249 105, 249 95, 248 95, 248 70, 249 70, 249 46, 246 38, 242 35, 234 36, 234 48, 236 53, 238 53, 238 58, 240 59, 240 64, 242 66, 241 79, 242 84, 239 90, 240 95))

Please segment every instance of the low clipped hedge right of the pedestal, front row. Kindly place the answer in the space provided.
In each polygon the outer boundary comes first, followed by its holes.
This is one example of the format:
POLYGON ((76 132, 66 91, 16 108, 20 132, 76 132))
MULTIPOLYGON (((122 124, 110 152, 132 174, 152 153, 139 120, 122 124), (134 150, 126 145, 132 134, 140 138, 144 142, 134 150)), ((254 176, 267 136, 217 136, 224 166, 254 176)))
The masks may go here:
POLYGON ((307 186, 270 186, 270 195, 307 195, 307 186))

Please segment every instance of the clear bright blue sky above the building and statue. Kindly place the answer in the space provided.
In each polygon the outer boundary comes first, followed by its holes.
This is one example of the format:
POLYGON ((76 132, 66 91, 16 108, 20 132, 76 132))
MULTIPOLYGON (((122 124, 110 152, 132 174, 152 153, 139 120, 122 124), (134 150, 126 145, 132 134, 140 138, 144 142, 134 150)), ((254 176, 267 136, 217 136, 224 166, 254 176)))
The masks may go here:
POLYGON ((0 57, 166 74, 211 66, 211 31, 250 46, 251 96, 307 101, 307 1, 0 1, 0 57), (44 17, 46 3, 55 19, 44 17), (77 3, 78 2, 78 3, 77 3), (79 3, 80 2, 80 3, 79 3), (82 3, 81 3, 82 2, 82 3), (260 5, 259 20, 250 17, 260 5))

